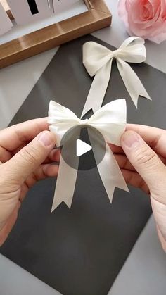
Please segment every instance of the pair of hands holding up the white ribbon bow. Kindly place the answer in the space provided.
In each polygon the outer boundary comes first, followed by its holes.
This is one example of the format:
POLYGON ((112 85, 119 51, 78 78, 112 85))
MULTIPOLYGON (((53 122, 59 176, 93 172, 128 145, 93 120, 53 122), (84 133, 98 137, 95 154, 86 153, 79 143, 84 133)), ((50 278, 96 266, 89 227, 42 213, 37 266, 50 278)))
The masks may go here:
MULTIPOLYGON (((166 251, 166 131, 127 125, 121 144, 110 148, 126 182, 150 194, 158 237, 166 251)), ((60 156, 55 145, 46 118, 0 131, 0 246, 15 224, 28 189, 58 174, 58 165, 51 165, 60 156)))

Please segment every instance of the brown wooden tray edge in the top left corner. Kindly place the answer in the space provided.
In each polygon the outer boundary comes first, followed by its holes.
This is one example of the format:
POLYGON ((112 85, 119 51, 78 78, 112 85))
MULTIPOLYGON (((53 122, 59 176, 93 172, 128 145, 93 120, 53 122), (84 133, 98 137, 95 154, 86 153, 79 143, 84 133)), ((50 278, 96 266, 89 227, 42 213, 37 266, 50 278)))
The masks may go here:
MULTIPOLYGON (((111 23, 104 0, 84 0, 88 11, 0 45, 0 68, 34 56, 111 23)), ((10 11, 7 11, 13 18, 10 11)))

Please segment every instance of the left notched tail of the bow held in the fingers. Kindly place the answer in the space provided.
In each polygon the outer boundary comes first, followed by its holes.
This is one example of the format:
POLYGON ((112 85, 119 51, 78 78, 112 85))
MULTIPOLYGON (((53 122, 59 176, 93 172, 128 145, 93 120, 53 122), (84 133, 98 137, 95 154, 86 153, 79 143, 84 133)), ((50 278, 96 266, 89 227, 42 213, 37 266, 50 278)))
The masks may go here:
POLYGON ((58 177, 56 180, 56 190, 53 197, 53 205, 51 213, 60 205, 65 202, 68 208, 72 206, 73 194, 75 192, 75 183, 77 180, 77 169, 71 168, 62 156, 60 157, 60 164, 58 170, 58 177))

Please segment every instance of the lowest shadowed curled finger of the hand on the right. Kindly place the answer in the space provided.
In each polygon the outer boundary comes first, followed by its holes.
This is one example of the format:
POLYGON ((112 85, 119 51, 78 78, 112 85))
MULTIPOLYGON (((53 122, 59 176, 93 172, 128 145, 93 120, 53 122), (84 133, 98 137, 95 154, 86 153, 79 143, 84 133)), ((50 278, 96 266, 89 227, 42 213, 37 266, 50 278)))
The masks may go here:
POLYGON ((122 175, 125 178, 125 182, 127 184, 132 185, 132 187, 138 187, 139 189, 142 189, 143 192, 146 192, 146 194, 149 194, 149 189, 147 184, 144 182, 142 177, 134 171, 121 169, 122 175))

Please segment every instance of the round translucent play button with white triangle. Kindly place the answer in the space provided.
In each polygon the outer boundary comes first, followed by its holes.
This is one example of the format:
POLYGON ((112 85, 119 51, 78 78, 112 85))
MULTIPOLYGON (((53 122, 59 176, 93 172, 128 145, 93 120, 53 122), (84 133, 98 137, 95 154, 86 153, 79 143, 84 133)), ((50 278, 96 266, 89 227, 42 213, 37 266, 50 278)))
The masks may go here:
POLYGON ((101 132, 89 125, 70 128, 61 142, 61 156, 65 163, 78 170, 89 170, 103 160, 106 142, 101 132))

